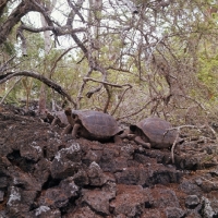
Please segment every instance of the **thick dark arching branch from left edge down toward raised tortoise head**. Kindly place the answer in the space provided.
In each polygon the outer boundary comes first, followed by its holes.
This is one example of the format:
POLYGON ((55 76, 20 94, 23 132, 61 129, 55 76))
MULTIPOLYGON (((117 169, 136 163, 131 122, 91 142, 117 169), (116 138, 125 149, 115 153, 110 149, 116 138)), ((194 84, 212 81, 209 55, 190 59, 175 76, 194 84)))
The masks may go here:
POLYGON ((9 81, 10 78, 12 78, 14 76, 29 76, 29 77, 34 77, 36 80, 39 80, 40 82, 45 83, 47 86, 55 89, 60 95, 64 96, 76 108, 75 101, 71 98, 71 96, 60 85, 58 85, 53 81, 51 81, 51 80, 49 80, 49 78, 45 77, 44 75, 38 74, 36 72, 32 72, 32 71, 9 72, 9 73, 0 76, 0 84, 5 83, 7 81, 9 81))

